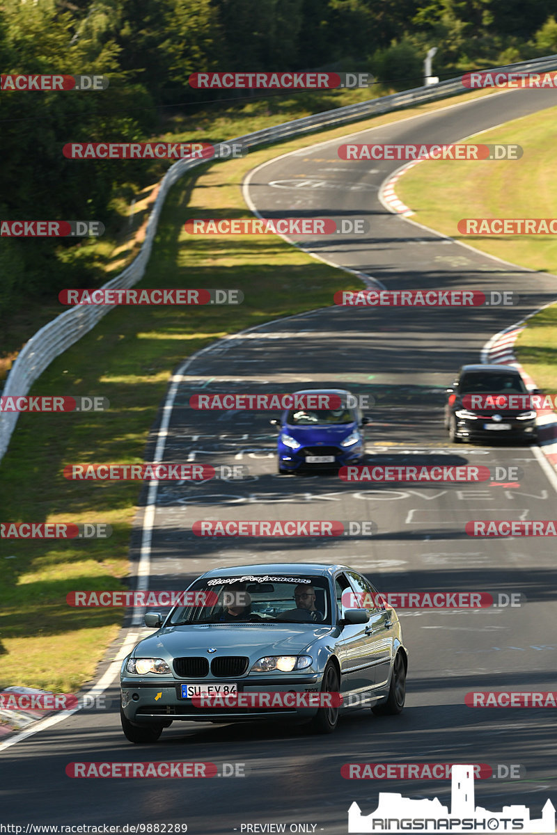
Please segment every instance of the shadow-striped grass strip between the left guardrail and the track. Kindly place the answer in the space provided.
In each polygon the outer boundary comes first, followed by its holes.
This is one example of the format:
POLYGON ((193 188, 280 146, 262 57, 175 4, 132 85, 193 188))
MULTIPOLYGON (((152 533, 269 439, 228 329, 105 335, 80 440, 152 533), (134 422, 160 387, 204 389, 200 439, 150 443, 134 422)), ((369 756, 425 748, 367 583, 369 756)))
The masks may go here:
MULTIPOLYGON (((282 144, 280 152, 443 106, 446 103, 428 104, 296 139, 282 144)), ((278 121, 291 115, 283 114, 278 121)), ((255 128, 227 124, 220 135, 231 138, 255 128)), ((78 690, 94 676, 122 623, 123 610, 73 609, 66 604, 66 595, 74 590, 125 588, 129 533, 142 485, 70 482, 63 478, 63 466, 140 463, 170 373, 185 357, 227 333, 326 306, 335 291, 360 286, 351 276, 275 236, 204 240, 185 234, 188 217, 250 216, 241 198, 242 177, 277 153, 276 147, 268 147, 245 159, 207 164, 180 180, 166 200, 149 266, 138 285, 238 287, 246 296, 243 305, 115 309, 55 360, 33 386, 31 394, 104 395, 110 409, 19 417, 0 464, 2 520, 99 521, 112 525, 114 534, 108 540, 87 542, 3 540, 0 688, 18 684, 78 690)), ((334 146, 326 153, 333 159, 334 146)), ((98 243, 102 247, 106 242, 98 243)), ((114 257, 124 261, 124 255, 114 257)), ((109 271, 110 264, 105 266, 109 271)))

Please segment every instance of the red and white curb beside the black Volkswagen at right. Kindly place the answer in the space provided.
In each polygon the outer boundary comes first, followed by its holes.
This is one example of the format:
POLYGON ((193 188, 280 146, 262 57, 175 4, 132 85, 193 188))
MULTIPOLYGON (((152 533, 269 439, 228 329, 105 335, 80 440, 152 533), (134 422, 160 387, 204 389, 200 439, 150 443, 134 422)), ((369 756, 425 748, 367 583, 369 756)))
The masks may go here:
MULTIPOLYGON (((549 305, 546 305, 546 307, 549 305)), ((543 310, 544 308, 540 308, 543 310)), ((491 337, 489 342, 486 342, 482 351, 482 362, 494 362, 498 365, 509 365, 517 368, 520 376, 523 378, 526 387, 531 391, 537 388, 536 383, 529 376, 524 368, 520 365, 517 358, 514 356, 514 342, 521 331, 526 327, 526 320, 535 313, 530 313, 522 321, 516 322, 514 325, 506 327, 504 331, 499 331, 494 337, 491 337)), ((553 409, 536 409, 538 417, 536 423, 538 425, 538 443, 545 458, 553 467, 557 468, 557 414, 553 409)))

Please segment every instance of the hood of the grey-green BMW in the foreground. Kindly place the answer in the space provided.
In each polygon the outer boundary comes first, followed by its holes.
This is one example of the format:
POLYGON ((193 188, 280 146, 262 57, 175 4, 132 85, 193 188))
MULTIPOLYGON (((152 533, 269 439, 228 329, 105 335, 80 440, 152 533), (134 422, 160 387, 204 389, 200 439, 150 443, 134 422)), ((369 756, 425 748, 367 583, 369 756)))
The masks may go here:
POLYGON ((200 624, 168 626, 135 647, 135 658, 172 660, 183 655, 247 655, 255 662, 263 655, 301 655, 316 638, 326 635, 331 626, 300 624, 200 624), (209 647, 216 652, 207 655, 209 647))

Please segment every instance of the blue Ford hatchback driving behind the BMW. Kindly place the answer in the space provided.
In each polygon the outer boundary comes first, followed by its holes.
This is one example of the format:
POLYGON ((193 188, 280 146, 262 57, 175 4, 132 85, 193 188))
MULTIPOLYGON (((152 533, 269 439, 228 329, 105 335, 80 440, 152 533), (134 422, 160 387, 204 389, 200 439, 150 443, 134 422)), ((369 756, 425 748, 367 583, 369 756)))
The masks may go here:
POLYGON ((280 427, 276 453, 281 475, 296 470, 324 470, 357 463, 365 452, 369 418, 357 397, 342 388, 307 388, 293 392, 294 407, 271 424, 280 427), (304 405, 296 407, 296 398, 304 405), (312 408, 328 403, 332 408, 312 408))

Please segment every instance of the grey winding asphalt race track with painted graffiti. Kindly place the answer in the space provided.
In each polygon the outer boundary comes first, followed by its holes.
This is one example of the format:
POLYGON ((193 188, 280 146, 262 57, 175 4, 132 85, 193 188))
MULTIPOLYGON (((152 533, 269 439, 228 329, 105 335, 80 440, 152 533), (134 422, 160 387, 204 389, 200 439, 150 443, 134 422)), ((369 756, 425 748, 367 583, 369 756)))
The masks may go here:
MULTIPOLYGON (((557 96, 549 90, 520 90, 468 104, 457 100, 353 140, 454 142, 555 104, 557 96)), ((347 135, 352 136, 350 129, 347 135)), ((449 800, 448 780, 349 781, 341 776, 347 762, 519 765, 522 779, 476 781, 479 804, 499 809, 524 803, 539 817, 547 797, 555 797, 554 711, 464 704, 468 691, 554 689, 553 547, 535 538, 473 539, 464 525, 471 519, 551 519, 557 479, 540 466, 534 448, 451 445, 442 415, 444 387, 458 366, 479 362, 496 331, 551 301, 557 279, 494 261, 391 215, 377 191, 401 163, 343 162, 337 146, 346 140, 315 141, 252 173, 246 193, 261 215, 365 217, 371 230, 364 238, 296 242, 389 290, 511 290, 519 304, 472 310, 331 306, 215 343, 195 357, 182 371, 164 459, 241 463, 249 476, 160 484, 149 588, 181 589, 218 565, 317 561, 351 565, 384 591, 519 593, 525 602, 517 608, 402 610, 410 650, 403 715, 377 718, 359 711, 344 718, 332 736, 306 736, 301 729, 272 724, 175 722, 154 745, 133 746, 120 729, 114 681, 106 693, 110 711, 78 711, 3 751, 0 797, 6 822, 185 822, 188 832, 200 835, 286 822, 344 835, 352 801, 367 814, 377 806, 380 791, 449 800), (328 474, 281 478, 273 452, 276 433, 268 423, 273 415, 197 412, 189 405, 190 396, 201 391, 281 392, 308 384, 372 394, 370 462, 519 466, 519 484, 502 478, 493 485, 372 488, 328 474), (372 520, 377 534, 372 539, 200 539, 191 533, 197 519, 372 520), (222 777, 216 786, 214 779, 79 780, 64 772, 75 760, 244 763, 246 777, 222 777)), ((458 176, 456 161, 454 168, 458 176)), ((151 451, 155 442, 153 435, 151 451)), ((134 564, 139 564, 141 516, 134 564)), ((114 655, 113 647, 101 672, 114 655)))

